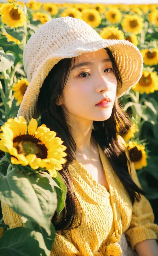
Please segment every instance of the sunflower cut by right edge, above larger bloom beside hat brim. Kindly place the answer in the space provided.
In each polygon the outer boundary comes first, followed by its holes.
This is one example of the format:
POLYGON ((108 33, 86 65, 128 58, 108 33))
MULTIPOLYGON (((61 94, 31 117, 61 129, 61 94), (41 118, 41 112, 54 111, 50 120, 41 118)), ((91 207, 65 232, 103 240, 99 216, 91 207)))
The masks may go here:
POLYGON ((143 49, 140 52, 145 65, 153 66, 158 64, 158 49, 152 48, 152 52, 149 49, 143 49))

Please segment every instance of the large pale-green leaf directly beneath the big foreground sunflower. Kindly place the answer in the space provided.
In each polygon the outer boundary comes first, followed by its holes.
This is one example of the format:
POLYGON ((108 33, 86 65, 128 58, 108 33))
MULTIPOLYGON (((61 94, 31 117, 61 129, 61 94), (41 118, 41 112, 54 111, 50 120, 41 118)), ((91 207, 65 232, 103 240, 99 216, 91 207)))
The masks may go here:
POLYGON ((0 173, 0 200, 17 214, 37 222, 50 235, 51 218, 57 207, 57 195, 50 175, 27 175, 15 168, 7 176, 0 173))

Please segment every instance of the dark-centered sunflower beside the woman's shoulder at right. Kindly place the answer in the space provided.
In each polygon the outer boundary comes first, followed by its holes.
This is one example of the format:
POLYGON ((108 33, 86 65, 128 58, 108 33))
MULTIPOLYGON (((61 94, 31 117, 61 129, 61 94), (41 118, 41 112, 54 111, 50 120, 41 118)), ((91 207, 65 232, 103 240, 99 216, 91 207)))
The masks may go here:
POLYGON ((129 141, 126 146, 129 150, 130 160, 134 163, 136 170, 147 166, 147 155, 143 145, 137 144, 135 141, 129 141))

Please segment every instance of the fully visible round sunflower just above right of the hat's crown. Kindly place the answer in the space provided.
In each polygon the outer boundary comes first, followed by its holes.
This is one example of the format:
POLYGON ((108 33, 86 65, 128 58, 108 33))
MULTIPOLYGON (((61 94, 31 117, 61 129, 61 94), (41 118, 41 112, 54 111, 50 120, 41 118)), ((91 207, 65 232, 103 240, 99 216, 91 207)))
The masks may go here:
POLYGON ((83 10, 81 18, 91 27, 98 27, 101 23, 100 13, 94 8, 83 10))

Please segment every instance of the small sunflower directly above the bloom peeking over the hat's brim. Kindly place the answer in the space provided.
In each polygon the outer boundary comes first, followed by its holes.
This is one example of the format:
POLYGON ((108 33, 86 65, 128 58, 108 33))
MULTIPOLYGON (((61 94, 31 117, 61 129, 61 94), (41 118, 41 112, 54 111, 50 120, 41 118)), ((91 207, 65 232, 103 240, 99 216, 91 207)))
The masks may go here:
POLYGON ((109 8, 108 11, 104 13, 105 18, 111 23, 118 23, 122 20, 122 13, 117 8, 109 8))

